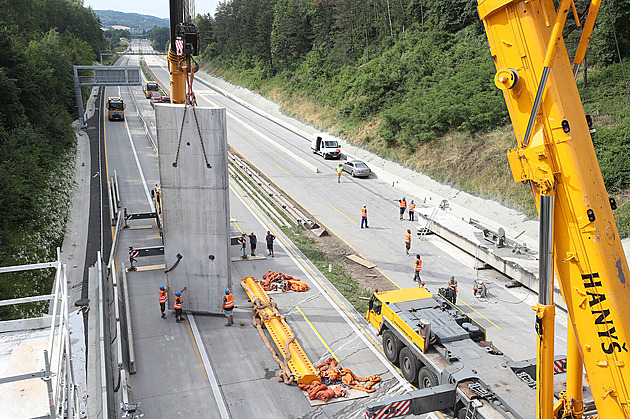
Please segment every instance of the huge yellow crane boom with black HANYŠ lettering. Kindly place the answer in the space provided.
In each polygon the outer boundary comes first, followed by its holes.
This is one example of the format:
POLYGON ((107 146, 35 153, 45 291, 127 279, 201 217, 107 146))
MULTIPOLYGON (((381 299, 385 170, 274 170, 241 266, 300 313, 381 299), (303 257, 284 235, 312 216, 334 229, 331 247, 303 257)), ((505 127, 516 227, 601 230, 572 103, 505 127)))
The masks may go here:
POLYGON ((562 39, 572 8, 478 0, 517 139, 508 151, 514 180, 529 184, 539 210, 541 197, 554 197, 552 259, 595 405, 600 417, 630 418, 630 275, 562 39))

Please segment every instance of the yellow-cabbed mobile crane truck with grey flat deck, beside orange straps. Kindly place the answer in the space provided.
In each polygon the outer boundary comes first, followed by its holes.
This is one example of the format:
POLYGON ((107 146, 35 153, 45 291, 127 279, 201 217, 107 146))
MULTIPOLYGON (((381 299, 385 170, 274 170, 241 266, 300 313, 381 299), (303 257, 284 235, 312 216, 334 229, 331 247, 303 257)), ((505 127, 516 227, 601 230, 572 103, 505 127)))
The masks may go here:
POLYGON ((366 319, 387 359, 419 388, 369 403, 366 419, 438 410, 458 419, 536 418, 535 360, 510 359, 444 296, 424 287, 375 292, 366 319))

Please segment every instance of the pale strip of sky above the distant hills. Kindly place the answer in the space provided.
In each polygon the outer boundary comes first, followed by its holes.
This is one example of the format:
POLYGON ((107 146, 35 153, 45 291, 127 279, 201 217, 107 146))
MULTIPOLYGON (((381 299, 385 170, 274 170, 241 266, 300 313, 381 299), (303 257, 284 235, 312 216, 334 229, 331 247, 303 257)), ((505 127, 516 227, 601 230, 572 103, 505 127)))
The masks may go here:
MULTIPOLYGON (((140 13, 164 19, 168 19, 168 3, 168 0, 83 0, 85 7, 91 6, 94 10, 140 13)), ((219 0, 196 0, 195 14, 210 13, 214 16, 218 4, 219 0)))

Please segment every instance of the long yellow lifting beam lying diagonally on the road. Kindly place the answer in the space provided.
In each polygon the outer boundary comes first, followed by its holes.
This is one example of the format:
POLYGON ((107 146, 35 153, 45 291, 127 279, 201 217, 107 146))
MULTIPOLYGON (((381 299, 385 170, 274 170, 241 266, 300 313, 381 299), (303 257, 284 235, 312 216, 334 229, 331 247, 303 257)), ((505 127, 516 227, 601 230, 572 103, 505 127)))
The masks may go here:
POLYGON ((285 321, 285 317, 278 311, 276 302, 273 301, 260 282, 252 277, 241 280, 241 286, 254 304, 252 317, 258 333, 271 351, 274 360, 280 365, 278 381, 291 384, 297 379, 298 384, 310 384, 318 380, 315 367, 306 356, 306 353, 297 342, 295 334, 285 321), (282 354, 283 359, 273 349, 262 326, 267 328, 276 348, 282 354))

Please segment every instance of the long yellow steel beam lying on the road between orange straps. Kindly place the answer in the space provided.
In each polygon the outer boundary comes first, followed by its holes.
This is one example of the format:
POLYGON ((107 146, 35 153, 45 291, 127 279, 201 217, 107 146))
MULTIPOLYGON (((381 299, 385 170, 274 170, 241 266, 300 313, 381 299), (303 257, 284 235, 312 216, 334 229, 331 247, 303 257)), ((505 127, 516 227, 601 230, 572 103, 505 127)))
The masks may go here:
MULTIPOLYGON (((264 304, 270 304, 272 302, 272 299, 269 298, 260 283, 251 276, 242 279, 241 286, 252 302, 257 298, 264 304)), ((275 316, 273 310, 269 307, 266 307, 263 312, 259 312, 259 317, 263 320, 269 335, 271 335, 271 338, 278 348, 278 352, 282 354, 285 361, 287 359, 285 348, 287 347, 287 342, 290 341, 288 344, 290 357, 287 361, 287 365, 291 373, 297 379, 298 384, 309 384, 312 381, 319 380, 317 370, 310 359, 308 359, 308 356, 306 356, 306 353, 298 341, 294 339, 295 335, 283 318, 275 316)))

